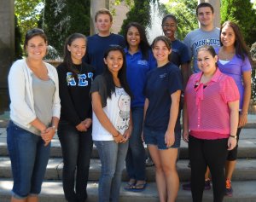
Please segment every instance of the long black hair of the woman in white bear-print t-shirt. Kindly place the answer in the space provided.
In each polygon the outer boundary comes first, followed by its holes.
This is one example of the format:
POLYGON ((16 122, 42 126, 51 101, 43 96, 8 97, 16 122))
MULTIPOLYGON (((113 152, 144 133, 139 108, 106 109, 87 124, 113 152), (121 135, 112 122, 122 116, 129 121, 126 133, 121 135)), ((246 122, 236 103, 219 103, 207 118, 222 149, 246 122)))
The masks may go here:
MULTIPOLYGON (((131 89, 129 88, 126 80, 126 61, 125 61, 124 49, 121 46, 112 46, 105 52, 104 58, 106 60, 108 57, 108 54, 111 51, 116 51, 116 50, 119 51, 123 56, 123 66, 118 72, 118 78, 122 88, 124 88, 125 92, 131 96, 131 89)), ((111 95, 115 92, 115 84, 113 83, 112 73, 108 70, 108 66, 106 64, 105 64, 104 72, 102 73, 102 77, 106 81, 107 95, 109 98, 111 98, 111 95)))

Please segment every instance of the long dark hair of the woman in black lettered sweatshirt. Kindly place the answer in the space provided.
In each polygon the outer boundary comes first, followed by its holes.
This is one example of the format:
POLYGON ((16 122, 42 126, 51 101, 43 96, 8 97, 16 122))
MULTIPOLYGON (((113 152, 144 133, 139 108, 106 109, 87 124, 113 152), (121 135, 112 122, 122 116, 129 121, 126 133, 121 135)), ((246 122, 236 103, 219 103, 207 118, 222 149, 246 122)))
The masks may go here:
MULTIPOLYGON (((75 77, 77 77, 77 74, 79 73, 79 71, 73 66, 73 61, 71 58, 71 52, 67 49, 67 45, 71 46, 71 44, 73 43, 73 41, 77 38, 83 38, 85 43, 87 41, 86 37, 84 36, 84 34, 81 33, 73 33, 72 35, 70 35, 65 42, 64 45, 64 60, 63 63, 67 66, 67 69, 70 72, 73 72, 75 77)), ((82 61, 83 62, 83 61, 82 61)))

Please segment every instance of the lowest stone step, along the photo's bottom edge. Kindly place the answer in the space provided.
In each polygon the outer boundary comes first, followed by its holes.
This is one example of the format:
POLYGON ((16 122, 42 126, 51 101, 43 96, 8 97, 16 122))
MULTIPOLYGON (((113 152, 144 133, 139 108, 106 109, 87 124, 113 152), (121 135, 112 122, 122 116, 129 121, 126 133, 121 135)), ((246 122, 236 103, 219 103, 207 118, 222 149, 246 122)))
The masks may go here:
MULTIPOLYGON (((1 202, 9 202, 12 181, 0 179, 0 199, 1 202)), ((120 188, 119 202, 158 202, 158 194, 156 184, 148 183, 147 188, 141 193, 127 192, 124 190, 125 182, 120 188)), ((232 182, 234 193, 232 197, 225 197, 224 202, 253 202, 256 201, 256 181, 239 181, 232 182)), ((98 183, 89 182, 88 184, 88 202, 96 202, 98 197, 98 183)), ((177 194, 177 202, 190 202, 191 193, 182 190, 181 186, 177 194)), ((40 194, 40 202, 64 202, 64 194, 61 182, 46 181, 43 183, 42 193, 40 194)), ((212 201, 212 190, 204 192, 204 202, 212 201)))

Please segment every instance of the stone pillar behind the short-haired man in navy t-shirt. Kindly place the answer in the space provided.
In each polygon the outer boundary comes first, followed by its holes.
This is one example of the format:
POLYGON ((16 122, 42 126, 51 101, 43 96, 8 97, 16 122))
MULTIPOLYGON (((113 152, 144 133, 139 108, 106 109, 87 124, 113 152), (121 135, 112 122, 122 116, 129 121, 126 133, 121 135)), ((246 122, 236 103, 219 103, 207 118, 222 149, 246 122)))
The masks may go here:
POLYGON ((96 33, 94 17, 99 9, 109 9, 109 0, 90 0, 90 35, 96 33))

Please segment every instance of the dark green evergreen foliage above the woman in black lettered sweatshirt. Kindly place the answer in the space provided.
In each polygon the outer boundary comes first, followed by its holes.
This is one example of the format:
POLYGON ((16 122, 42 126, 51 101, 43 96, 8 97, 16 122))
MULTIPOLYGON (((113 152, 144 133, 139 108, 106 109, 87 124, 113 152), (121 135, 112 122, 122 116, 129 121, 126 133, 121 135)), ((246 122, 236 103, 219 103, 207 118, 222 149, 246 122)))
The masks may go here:
POLYGON ((63 44, 70 34, 90 34, 90 0, 45 0, 44 19, 49 44, 63 55, 63 44))

